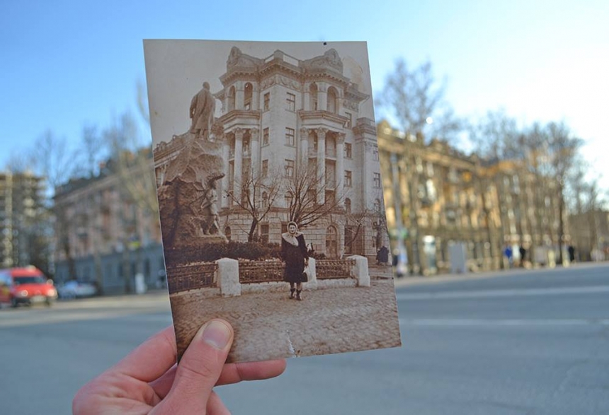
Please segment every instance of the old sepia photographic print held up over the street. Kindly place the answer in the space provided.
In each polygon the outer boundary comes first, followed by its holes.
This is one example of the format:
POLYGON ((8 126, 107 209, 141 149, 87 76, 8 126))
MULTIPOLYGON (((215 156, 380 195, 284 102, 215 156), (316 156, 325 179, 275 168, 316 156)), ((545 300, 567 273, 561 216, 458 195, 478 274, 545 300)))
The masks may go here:
POLYGON ((144 56, 178 356, 215 317, 233 362, 399 346, 365 42, 144 56))

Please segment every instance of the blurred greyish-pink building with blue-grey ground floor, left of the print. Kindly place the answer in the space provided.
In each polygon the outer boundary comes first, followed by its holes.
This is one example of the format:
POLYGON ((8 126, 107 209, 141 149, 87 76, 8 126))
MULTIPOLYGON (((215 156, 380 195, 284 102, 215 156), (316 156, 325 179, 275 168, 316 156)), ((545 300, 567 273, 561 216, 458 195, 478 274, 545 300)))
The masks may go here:
MULTIPOLYGON (((147 172, 135 166, 129 174, 142 177, 147 172)), ((96 283, 108 294, 135 291, 137 274, 148 286, 162 279, 159 216, 135 201, 112 160, 96 177, 70 180, 56 189, 55 208, 59 283, 96 283)))

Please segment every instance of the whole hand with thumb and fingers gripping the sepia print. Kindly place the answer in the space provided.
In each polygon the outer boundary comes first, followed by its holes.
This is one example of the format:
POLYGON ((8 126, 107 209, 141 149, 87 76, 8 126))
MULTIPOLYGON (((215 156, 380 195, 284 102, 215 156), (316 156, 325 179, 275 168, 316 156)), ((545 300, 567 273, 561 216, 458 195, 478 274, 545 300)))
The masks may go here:
POLYGON ((274 378, 285 360, 228 363, 234 332, 224 320, 199 329, 176 366, 173 327, 144 341, 122 361, 76 393, 74 415, 229 414, 212 390, 241 380, 274 378))

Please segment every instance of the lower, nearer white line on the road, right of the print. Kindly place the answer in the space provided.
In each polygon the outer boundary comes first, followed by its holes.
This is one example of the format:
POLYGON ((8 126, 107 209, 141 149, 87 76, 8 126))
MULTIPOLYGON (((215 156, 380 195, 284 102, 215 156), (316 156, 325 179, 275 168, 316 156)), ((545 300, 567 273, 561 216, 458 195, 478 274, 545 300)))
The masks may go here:
POLYGON ((404 326, 609 326, 609 319, 401 318, 404 326))

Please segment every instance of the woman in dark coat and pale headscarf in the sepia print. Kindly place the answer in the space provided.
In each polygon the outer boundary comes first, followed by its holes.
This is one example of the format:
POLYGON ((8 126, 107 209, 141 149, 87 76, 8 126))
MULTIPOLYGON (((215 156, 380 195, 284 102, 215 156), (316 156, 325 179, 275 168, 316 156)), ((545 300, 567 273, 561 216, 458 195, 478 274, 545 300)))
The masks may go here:
POLYGON ((305 236, 298 232, 295 222, 288 223, 288 232, 281 234, 281 257, 285 262, 283 271, 283 281, 290 283, 290 298, 302 300, 302 283, 307 282, 307 277, 303 275, 305 265, 309 263, 305 236))

